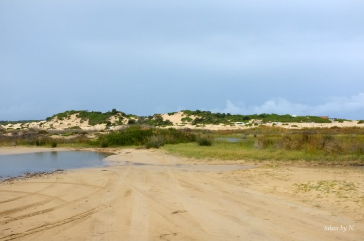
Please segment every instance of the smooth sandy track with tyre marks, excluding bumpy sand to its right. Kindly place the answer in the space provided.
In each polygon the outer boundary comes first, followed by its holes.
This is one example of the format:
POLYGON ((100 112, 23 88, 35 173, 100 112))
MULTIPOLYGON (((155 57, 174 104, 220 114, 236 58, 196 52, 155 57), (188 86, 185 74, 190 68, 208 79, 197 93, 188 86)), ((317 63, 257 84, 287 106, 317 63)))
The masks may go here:
POLYGON ((363 223, 179 170, 159 152, 122 150, 116 166, 0 185, 6 240, 360 240, 363 223), (324 231, 351 225, 355 231, 324 231))

